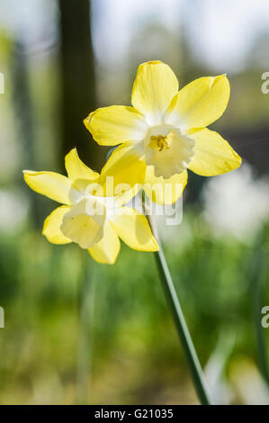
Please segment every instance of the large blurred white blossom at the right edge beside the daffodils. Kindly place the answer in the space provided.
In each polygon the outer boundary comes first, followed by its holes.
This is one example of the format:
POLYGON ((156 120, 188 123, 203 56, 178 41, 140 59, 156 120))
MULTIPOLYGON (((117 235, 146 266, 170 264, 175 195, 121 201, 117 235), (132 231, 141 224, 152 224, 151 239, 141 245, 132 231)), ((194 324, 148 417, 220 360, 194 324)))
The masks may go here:
POLYGON ((247 164, 211 178, 202 199, 205 219, 216 235, 247 240, 269 220, 269 179, 255 178, 247 164))

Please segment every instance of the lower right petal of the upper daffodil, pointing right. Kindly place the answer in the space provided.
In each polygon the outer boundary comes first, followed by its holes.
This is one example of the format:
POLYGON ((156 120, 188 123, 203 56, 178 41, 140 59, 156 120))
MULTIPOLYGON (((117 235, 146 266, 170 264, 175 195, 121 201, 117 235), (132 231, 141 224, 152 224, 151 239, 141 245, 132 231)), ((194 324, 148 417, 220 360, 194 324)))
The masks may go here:
POLYGON ((241 165, 241 157, 218 132, 205 128, 194 132, 192 137, 195 139, 194 157, 189 169, 195 174, 220 175, 241 165))

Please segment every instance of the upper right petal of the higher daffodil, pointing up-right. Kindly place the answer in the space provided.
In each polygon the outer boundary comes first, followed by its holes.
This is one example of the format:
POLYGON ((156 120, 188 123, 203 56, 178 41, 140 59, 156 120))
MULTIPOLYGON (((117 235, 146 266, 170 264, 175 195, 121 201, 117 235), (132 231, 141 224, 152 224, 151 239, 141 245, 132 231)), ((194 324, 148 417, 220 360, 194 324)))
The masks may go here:
POLYGON ((229 102, 229 80, 225 75, 195 79, 175 95, 166 112, 166 123, 181 130, 195 130, 220 118, 229 102))

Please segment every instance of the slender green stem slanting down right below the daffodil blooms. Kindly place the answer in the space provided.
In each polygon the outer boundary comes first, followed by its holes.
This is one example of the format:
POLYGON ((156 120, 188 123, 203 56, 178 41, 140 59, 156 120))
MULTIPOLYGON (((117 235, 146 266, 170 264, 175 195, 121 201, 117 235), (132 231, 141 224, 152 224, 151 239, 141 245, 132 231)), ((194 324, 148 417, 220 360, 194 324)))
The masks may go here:
MULTIPOLYGON (((151 216, 147 217, 152 232, 154 236, 158 239, 156 225, 154 224, 154 221, 151 216)), ((202 374, 202 367, 199 362, 199 358, 196 354, 195 348, 193 346, 193 341, 189 329, 187 327, 186 321, 184 319, 184 313, 178 301, 177 294, 175 292, 175 286, 173 284, 172 277, 166 264, 166 257, 160 245, 159 239, 158 244, 159 251, 154 253, 157 263, 157 269, 160 276, 160 280, 163 285, 163 289, 166 294, 166 301, 173 315, 175 327, 177 329, 178 336, 181 340, 182 347, 184 348, 184 354, 190 366, 191 374, 193 377, 193 384, 195 386, 196 393, 202 405, 211 405, 209 392, 202 374)))

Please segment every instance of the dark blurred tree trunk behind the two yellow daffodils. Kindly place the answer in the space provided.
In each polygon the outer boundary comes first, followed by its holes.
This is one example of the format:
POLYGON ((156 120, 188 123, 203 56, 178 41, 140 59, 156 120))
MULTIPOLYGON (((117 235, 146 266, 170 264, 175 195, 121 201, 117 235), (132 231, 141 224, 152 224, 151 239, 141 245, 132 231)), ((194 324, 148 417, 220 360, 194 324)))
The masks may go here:
POLYGON ((90 1, 59 0, 59 12, 62 153, 76 147, 85 164, 100 170, 104 151, 83 123, 96 108, 90 1))

